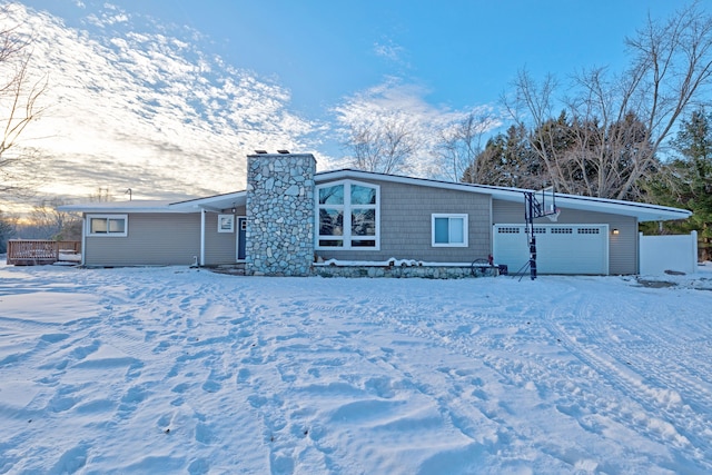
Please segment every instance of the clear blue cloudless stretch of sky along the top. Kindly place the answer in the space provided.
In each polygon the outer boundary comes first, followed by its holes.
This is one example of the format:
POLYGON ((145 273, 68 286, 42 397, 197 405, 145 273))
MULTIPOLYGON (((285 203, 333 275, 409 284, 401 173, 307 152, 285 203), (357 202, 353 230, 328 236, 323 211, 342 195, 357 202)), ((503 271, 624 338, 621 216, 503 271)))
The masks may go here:
MULTIPOLYGON (((92 3, 24 1, 75 24, 92 3)), ((102 4, 103 2, 96 2, 102 4)), ((323 113, 394 77, 452 108, 497 100, 516 71, 535 77, 624 66, 624 38, 674 0, 134 0, 132 16, 187 26, 201 46, 291 91, 297 110, 323 113)))

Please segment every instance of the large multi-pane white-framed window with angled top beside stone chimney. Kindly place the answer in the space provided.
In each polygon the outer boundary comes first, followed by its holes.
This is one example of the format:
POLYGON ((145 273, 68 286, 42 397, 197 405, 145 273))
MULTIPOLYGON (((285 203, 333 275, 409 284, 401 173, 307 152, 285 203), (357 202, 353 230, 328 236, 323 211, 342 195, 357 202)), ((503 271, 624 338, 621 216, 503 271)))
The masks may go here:
POLYGON ((379 187, 350 180, 316 188, 317 249, 379 247, 379 187))

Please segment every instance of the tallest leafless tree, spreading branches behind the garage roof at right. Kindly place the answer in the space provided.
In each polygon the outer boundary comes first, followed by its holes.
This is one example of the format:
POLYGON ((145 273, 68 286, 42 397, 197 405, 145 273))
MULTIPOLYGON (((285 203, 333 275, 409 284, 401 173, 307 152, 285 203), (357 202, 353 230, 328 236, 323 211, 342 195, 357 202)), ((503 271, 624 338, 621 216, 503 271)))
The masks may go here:
POLYGON ((712 82, 712 17, 698 3, 665 22, 649 18, 626 44, 632 60, 623 75, 583 71, 561 102, 551 76, 536 83, 522 71, 515 81, 507 107, 515 119, 525 121, 524 112, 531 120, 532 148, 562 191, 636 198, 640 180, 655 169, 681 115, 705 99, 712 82), (554 119, 557 103, 564 123, 554 119))

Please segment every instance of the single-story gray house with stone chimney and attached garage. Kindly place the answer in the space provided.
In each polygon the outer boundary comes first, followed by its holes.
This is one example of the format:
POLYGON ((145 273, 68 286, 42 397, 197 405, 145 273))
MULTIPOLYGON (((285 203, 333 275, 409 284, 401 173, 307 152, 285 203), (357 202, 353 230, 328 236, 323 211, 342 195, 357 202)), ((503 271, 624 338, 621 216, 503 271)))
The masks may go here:
MULTIPOLYGON (((248 156, 247 189, 179 202, 65 206, 85 219, 86 266, 245 263, 248 275, 314 275, 347 267, 462 269, 494 256, 516 270, 530 249, 524 191, 342 169, 310 154, 248 156)), ((637 225, 690 211, 556 195, 540 218, 540 274, 637 274, 637 225)), ((457 274, 455 274, 457 275, 457 274)))

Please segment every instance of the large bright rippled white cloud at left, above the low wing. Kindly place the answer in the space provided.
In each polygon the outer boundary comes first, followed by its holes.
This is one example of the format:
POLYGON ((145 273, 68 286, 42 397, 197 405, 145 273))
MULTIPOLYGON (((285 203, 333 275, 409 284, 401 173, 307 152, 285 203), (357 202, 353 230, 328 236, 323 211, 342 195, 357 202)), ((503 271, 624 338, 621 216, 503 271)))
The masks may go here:
POLYGON ((21 4, 11 11, 33 38, 33 76, 49 81, 47 110, 20 138, 51 162, 52 179, 39 189, 46 196, 237 190, 247 154, 309 149, 323 130, 289 110, 278 83, 201 50, 195 31, 138 30, 111 4, 90 13, 85 29, 21 4))

